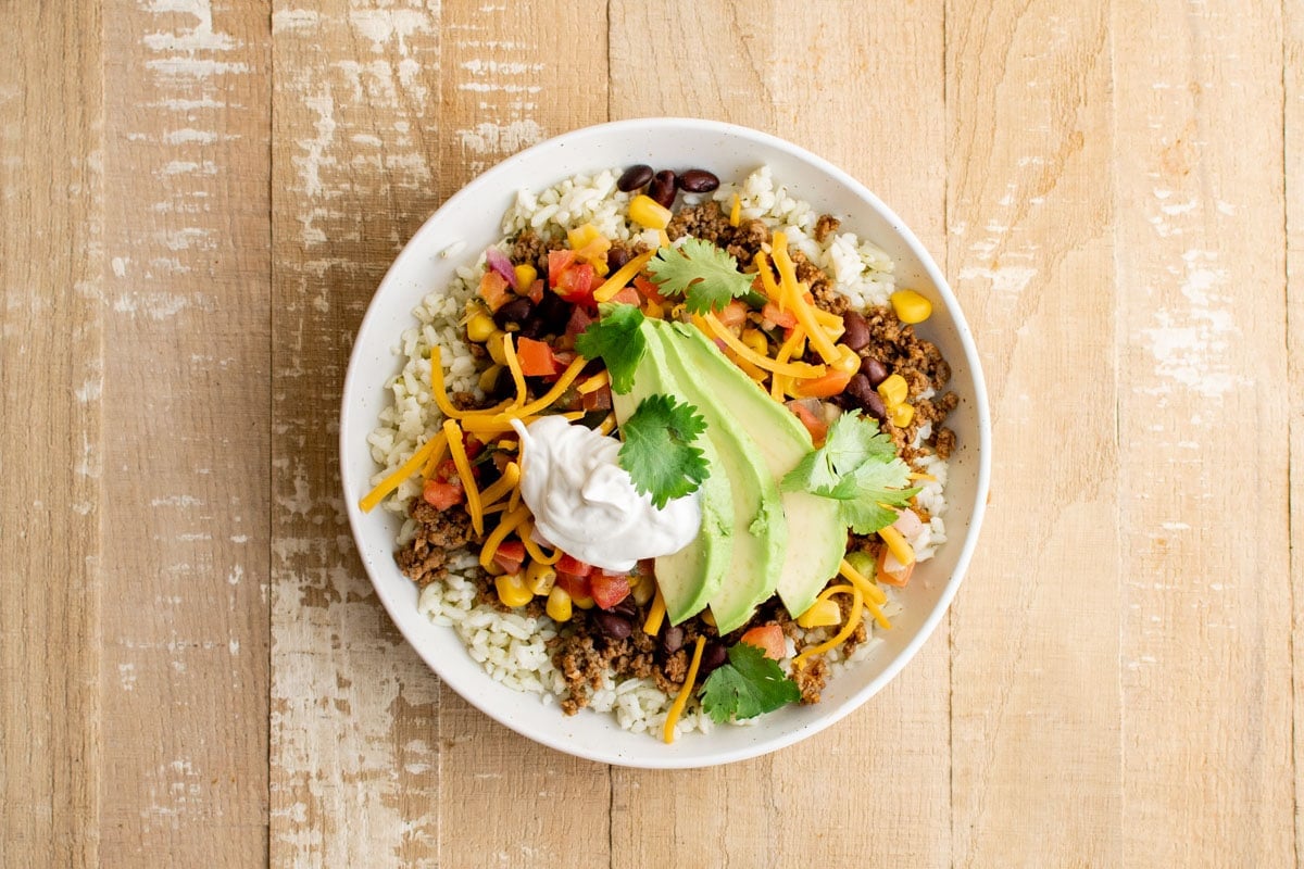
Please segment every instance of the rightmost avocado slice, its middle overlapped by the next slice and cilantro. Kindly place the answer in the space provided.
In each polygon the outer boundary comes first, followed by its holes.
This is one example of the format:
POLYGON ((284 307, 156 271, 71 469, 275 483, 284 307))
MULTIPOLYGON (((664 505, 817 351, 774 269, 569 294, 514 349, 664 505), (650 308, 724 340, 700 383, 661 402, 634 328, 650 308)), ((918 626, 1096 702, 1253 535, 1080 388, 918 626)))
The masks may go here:
MULTIPOLYGON (((678 371, 691 371, 687 379, 751 435, 755 446, 748 455, 760 456, 775 482, 782 481, 814 449, 806 426, 765 395, 700 331, 674 328, 668 344, 681 363, 678 371)), ((793 491, 781 492, 780 500, 788 520, 789 546, 777 590, 788 612, 797 618, 837 576, 846 554, 846 525, 838 517, 837 503, 829 498, 793 491)))

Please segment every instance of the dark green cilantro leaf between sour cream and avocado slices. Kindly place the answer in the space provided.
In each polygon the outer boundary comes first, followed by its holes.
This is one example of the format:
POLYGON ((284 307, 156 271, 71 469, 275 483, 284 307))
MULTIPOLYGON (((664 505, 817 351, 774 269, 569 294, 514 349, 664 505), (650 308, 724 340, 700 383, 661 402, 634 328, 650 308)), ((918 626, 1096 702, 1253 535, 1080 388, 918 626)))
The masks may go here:
POLYGON ((702 451, 692 446, 705 430, 705 420, 691 404, 660 392, 649 395, 621 425, 621 468, 636 491, 651 495, 657 508, 665 507, 672 498, 696 491, 709 474, 702 451))

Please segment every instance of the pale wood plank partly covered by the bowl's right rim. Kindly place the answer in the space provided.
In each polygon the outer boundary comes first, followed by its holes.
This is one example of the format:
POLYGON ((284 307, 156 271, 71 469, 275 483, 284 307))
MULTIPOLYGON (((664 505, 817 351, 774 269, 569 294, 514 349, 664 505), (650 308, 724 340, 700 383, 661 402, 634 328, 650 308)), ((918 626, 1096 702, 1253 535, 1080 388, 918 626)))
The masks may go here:
POLYGON ((1118 865, 1111 23, 1091 4, 945 14, 947 271, 995 442, 952 612, 955 862, 1118 865))

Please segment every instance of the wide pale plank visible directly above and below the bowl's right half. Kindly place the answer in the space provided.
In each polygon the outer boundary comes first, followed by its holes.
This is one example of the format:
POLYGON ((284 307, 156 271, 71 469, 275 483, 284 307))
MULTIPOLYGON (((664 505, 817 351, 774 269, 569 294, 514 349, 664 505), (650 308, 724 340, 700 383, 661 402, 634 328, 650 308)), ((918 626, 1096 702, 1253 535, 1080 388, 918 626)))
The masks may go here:
MULTIPOLYGON (((793 18, 777 3, 698 3, 670 12, 615 3, 610 22, 613 117, 708 115, 793 139, 900 208, 940 257, 940 4, 880 5, 872 17, 815 4, 810 14, 793 18), (775 39, 778 22, 782 39, 775 39), (660 39, 659 74, 644 74, 648 34, 694 33, 716 34, 734 51, 702 52, 691 39, 660 39), (889 113, 892 122, 884 124, 889 113)), ((692 774, 613 770, 615 865, 694 864, 722 852, 737 865, 786 865, 803 852, 841 865, 862 859, 870 843, 884 859, 945 865, 945 636, 939 631, 866 709, 802 745, 692 774), (874 787, 863 797, 828 800, 805 784, 837 780, 853 763, 872 769, 874 787), (892 817, 892 835, 862 830, 874 816, 892 817), (660 822, 648 823, 649 817, 660 822)))

